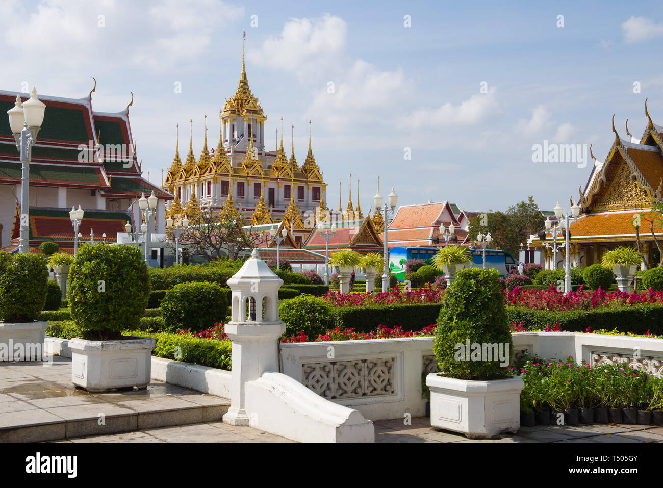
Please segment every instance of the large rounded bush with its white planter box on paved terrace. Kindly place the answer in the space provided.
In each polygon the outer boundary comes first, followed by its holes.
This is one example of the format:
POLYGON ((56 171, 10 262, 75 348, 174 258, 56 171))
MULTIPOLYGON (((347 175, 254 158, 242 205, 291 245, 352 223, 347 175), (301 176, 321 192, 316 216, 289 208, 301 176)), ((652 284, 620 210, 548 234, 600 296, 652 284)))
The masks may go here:
POLYGON ((72 319, 84 331, 69 341, 74 385, 90 392, 147 387, 155 341, 125 337, 122 331, 138 329, 150 288, 139 249, 107 244, 78 249, 67 292, 72 319))

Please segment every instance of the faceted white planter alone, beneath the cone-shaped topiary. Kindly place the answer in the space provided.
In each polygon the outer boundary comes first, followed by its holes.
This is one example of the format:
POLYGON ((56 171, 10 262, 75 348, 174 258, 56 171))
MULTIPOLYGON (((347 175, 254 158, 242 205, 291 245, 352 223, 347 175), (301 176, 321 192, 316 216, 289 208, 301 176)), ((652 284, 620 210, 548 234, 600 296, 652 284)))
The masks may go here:
POLYGON ((471 439, 493 438, 520 428, 520 377, 493 381, 467 381, 426 377, 430 388, 430 425, 460 432, 471 439))

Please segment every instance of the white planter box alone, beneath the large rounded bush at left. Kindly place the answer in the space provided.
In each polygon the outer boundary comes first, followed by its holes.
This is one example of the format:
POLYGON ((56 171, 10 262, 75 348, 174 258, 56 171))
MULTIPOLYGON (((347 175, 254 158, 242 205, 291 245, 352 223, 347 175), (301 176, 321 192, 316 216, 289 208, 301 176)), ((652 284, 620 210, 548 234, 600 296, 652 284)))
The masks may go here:
POLYGON ((72 351, 72 383, 99 393, 147 387, 151 379, 150 337, 129 337, 119 341, 88 341, 76 337, 69 341, 72 351))

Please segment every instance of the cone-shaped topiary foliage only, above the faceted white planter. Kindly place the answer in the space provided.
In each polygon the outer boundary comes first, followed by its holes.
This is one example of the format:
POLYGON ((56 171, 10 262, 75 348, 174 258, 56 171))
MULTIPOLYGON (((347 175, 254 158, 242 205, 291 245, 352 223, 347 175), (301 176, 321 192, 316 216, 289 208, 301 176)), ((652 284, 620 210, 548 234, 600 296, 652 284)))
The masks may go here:
POLYGON ((499 357, 467 361, 464 354, 467 340, 470 344, 497 344, 509 354, 513 349, 499 273, 496 269, 465 268, 456 276, 444 294, 435 330, 433 350, 440 371, 444 376, 465 380, 504 378, 510 356, 505 365, 499 357))

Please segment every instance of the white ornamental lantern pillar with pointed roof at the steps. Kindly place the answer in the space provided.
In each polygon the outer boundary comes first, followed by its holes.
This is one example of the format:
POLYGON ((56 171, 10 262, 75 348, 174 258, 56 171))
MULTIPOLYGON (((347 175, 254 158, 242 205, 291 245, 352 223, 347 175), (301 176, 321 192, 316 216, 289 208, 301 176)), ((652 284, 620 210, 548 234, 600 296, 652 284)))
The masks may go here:
POLYGON ((250 424, 245 409, 245 385, 265 372, 279 370, 278 341, 286 324, 278 318, 278 288, 283 280, 272 273, 257 249, 228 280, 231 289, 231 322, 225 334, 233 343, 230 408, 223 422, 250 424))

